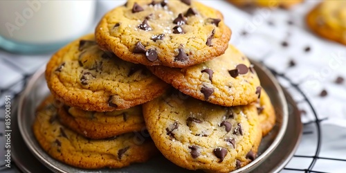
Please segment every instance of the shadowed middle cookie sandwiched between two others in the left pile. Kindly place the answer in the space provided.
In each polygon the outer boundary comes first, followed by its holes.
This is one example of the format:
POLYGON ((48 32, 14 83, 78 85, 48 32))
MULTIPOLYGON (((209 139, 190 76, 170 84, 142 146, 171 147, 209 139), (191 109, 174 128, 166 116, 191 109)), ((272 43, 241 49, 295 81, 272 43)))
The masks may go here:
POLYGON ((63 125, 87 138, 111 138, 119 134, 145 130, 142 106, 120 111, 83 111, 76 107, 60 107, 57 116, 63 125))

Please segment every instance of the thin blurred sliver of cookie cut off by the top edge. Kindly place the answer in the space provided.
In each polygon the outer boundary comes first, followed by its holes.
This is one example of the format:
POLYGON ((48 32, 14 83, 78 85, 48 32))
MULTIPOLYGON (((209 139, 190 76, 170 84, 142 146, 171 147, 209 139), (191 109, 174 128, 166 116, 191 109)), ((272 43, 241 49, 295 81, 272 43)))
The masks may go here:
POLYGON ((302 3, 304 0, 228 0, 235 6, 244 7, 244 6, 260 6, 266 8, 291 8, 298 3, 302 3))

